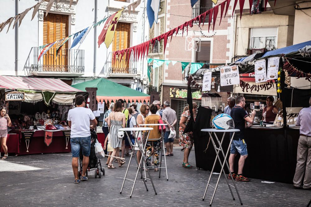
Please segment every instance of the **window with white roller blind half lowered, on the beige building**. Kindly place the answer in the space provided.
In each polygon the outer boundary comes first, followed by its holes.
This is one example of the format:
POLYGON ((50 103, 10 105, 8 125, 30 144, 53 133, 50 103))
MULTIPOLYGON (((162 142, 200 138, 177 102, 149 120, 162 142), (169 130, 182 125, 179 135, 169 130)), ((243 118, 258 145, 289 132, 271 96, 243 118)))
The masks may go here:
POLYGON ((277 47, 277 27, 251 28, 250 48, 277 47))

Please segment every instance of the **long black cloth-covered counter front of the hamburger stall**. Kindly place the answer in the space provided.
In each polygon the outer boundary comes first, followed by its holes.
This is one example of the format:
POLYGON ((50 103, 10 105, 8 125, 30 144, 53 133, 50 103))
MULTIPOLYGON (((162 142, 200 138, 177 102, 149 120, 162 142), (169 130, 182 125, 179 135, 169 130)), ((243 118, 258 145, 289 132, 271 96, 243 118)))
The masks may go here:
MULTIPOLYGON (((221 134, 217 133, 217 136, 221 134)), ((296 169, 299 128, 251 127, 245 129, 245 142, 248 157, 245 160, 243 174, 249 178, 257 178, 275 182, 293 183, 296 169)), ((211 170, 216 153, 212 143, 207 143, 209 136, 194 137, 197 168, 211 170), (206 150, 206 151, 205 151, 206 150)), ((228 146, 229 133, 226 134, 222 146, 228 146)), ((234 172, 238 171, 239 155, 235 158, 234 172)), ((220 172, 216 164, 215 172, 220 172)), ((229 172, 226 172, 229 173, 229 172)))

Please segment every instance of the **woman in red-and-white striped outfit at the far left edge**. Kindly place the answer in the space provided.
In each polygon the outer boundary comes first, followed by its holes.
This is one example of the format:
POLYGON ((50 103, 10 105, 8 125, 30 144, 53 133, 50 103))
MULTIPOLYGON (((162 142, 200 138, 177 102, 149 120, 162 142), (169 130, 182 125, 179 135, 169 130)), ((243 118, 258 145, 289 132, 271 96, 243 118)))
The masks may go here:
POLYGON ((11 119, 7 114, 7 109, 5 107, 0 108, 0 139, 1 139, 1 146, 4 151, 4 155, 2 160, 7 159, 7 127, 12 125, 11 119))

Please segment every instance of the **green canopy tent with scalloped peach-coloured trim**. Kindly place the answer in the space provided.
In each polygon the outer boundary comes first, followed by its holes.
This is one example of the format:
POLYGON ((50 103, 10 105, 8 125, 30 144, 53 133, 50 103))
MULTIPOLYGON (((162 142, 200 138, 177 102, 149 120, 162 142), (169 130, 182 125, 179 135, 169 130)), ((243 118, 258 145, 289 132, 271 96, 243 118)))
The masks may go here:
POLYGON ((118 99, 123 99, 126 102, 141 102, 150 101, 150 95, 136 91, 132 88, 114 83, 108 79, 99 78, 83 83, 77 83, 72 85, 73 88, 77 88, 81 91, 85 91, 86 87, 97 88, 96 100, 98 102, 116 102, 118 99))

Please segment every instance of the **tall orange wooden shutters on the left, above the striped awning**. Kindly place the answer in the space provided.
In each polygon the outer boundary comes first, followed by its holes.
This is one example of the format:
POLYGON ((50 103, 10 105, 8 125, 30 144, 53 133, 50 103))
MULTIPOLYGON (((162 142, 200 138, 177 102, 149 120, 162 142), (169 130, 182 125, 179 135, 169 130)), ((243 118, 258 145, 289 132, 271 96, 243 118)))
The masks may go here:
MULTIPOLYGON (((49 13, 43 18, 43 44, 53 43, 68 36, 68 15, 49 13)), ((61 43, 54 44, 53 47, 44 54, 43 65, 67 65, 68 42, 62 47, 56 58, 56 50, 61 43)))

